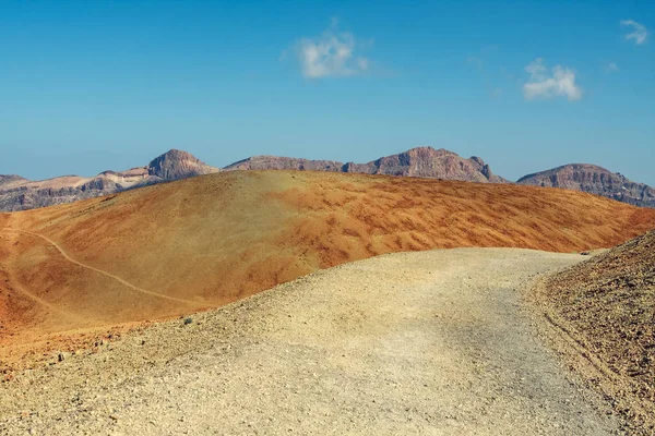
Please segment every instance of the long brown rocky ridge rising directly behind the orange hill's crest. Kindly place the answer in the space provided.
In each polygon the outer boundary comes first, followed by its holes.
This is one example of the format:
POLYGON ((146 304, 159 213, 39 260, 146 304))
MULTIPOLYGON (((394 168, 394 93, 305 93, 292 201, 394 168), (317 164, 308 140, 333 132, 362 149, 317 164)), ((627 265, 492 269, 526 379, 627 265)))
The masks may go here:
POLYGON ((368 164, 255 156, 225 167, 224 170, 308 170, 425 177, 479 183, 507 182, 505 179, 495 175, 489 166, 479 157, 465 159, 455 153, 432 147, 412 148, 405 153, 381 157, 368 164))

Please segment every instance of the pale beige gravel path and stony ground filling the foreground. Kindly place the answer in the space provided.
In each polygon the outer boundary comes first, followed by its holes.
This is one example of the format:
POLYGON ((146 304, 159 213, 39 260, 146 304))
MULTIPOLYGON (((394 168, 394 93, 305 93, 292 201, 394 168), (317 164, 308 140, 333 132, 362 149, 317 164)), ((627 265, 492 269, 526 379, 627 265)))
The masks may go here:
POLYGON ((582 259, 461 249, 321 271, 0 385, 0 433, 617 434, 521 305, 582 259))

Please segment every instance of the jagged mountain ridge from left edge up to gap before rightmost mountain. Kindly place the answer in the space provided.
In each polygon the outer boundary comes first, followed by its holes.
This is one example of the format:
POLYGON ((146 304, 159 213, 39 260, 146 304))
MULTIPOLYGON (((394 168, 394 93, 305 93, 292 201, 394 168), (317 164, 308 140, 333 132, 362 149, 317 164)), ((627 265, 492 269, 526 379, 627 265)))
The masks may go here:
POLYGON ((254 156, 224 169, 211 167, 187 152, 171 149, 153 159, 146 167, 128 171, 104 171, 94 178, 66 175, 29 181, 19 175, 0 175, 0 211, 72 203, 155 183, 235 170, 309 170, 426 177, 480 183, 507 182, 492 174, 489 166, 478 157, 465 159, 455 153, 432 147, 413 148, 368 164, 254 156))

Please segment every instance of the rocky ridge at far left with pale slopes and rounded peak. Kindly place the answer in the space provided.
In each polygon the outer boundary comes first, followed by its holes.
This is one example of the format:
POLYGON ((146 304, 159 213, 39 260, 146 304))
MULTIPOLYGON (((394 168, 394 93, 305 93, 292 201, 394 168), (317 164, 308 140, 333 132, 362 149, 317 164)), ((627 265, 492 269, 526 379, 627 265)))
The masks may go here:
POLYGON ((186 152, 170 150, 147 167, 105 171, 94 178, 75 175, 29 181, 0 175, 0 211, 27 210, 114 194, 135 187, 219 171, 186 152))

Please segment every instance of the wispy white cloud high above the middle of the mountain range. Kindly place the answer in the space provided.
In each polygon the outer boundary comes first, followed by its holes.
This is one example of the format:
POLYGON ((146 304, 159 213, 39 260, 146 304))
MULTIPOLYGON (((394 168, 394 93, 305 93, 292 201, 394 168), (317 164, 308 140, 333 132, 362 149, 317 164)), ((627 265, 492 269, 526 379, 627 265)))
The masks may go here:
POLYGON ((348 32, 340 32, 338 20, 321 36, 301 38, 296 52, 302 75, 308 78, 340 77, 361 74, 369 70, 368 58, 358 53, 362 47, 348 32))

